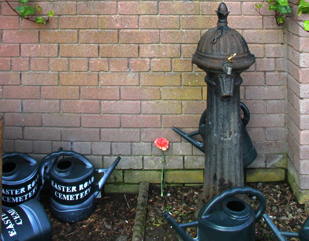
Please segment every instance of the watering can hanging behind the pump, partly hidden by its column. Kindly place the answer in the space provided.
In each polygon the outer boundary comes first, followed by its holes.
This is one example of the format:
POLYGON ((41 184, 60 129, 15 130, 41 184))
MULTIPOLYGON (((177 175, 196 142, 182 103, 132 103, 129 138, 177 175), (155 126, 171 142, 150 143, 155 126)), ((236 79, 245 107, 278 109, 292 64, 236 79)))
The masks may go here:
MULTIPOLYGON (((242 146, 242 151, 243 151, 243 168, 246 168, 252 163, 252 161, 255 160, 257 156, 257 152, 248 134, 248 131, 246 129, 246 126, 250 120, 249 109, 243 102, 240 102, 240 108, 243 110, 243 118, 241 120, 241 146, 242 146)), ((207 113, 207 109, 203 112, 201 116, 199 128, 197 131, 193 131, 191 133, 185 134, 183 131, 180 131, 178 128, 173 127, 173 131, 175 131, 178 135, 182 136, 185 140, 193 144, 193 146, 198 148, 203 153, 205 153, 206 113, 207 113), (197 135, 201 135, 203 139, 203 143, 192 138, 192 136, 197 136, 197 135)))

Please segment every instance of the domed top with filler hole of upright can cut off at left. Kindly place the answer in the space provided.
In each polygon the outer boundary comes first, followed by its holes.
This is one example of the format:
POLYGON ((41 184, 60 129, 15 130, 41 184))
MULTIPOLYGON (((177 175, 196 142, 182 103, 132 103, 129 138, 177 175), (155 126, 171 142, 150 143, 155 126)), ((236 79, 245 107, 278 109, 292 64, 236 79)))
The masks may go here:
POLYGON ((33 178, 38 170, 39 165, 35 160, 30 163, 23 157, 5 158, 2 161, 2 184, 18 185, 24 183, 33 178))

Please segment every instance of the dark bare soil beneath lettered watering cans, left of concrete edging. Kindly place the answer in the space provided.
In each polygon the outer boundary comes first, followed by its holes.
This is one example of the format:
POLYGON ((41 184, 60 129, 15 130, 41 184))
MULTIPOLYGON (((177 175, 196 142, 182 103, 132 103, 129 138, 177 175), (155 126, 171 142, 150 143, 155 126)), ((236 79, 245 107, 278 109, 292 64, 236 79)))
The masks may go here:
POLYGON ((85 220, 66 223, 57 220, 50 212, 49 196, 42 197, 42 204, 53 227, 53 241, 121 241, 132 239, 138 195, 106 195, 96 200, 95 211, 85 220))

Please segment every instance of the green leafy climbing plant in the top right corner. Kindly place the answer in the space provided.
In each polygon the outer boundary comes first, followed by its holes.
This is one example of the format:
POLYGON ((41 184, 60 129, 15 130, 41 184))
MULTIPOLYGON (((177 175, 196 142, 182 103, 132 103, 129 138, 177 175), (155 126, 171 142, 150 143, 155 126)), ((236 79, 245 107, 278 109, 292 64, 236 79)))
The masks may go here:
MULTIPOLYGON (((302 13, 309 14, 309 3, 304 0, 298 0, 297 2, 294 2, 290 5, 288 0, 268 0, 269 3, 269 10, 274 11, 276 19, 276 23, 278 26, 283 24, 285 21, 287 15, 289 15, 301 28, 303 28, 305 31, 309 32, 309 20, 305 20, 303 22, 303 25, 299 24, 299 20, 297 17, 299 17, 302 13), (292 7, 298 6, 298 12, 297 17, 293 18, 292 16, 292 7)), ((262 4, 258 3, 255 4, 254 8, 255 10, 260 14, 260 8, 262 7, 262 4)))

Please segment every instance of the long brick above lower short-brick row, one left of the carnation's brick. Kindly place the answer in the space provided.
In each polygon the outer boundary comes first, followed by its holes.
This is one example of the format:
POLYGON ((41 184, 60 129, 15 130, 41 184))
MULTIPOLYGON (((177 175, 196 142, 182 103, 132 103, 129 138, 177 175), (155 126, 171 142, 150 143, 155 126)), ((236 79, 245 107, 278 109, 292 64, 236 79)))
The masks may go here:
POLYGON ((101 129, 101 141, 139 142, 139 130, 101 129))

